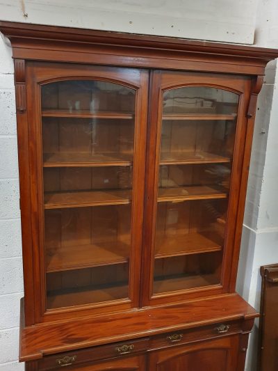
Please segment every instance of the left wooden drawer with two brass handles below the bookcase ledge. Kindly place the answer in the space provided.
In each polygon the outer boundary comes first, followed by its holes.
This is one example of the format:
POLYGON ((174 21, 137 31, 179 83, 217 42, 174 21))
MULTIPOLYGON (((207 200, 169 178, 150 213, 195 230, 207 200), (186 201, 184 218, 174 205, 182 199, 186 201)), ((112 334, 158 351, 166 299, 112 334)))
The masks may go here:
POLYGON ((39 361, 38 370, 72 369, 71 366, 82 365, 101 359, 124 357, 129 354, 144 352, 149 346, 149 338, 114 342, 72 352, 57 353, 54 356, 45 356, 39 361))

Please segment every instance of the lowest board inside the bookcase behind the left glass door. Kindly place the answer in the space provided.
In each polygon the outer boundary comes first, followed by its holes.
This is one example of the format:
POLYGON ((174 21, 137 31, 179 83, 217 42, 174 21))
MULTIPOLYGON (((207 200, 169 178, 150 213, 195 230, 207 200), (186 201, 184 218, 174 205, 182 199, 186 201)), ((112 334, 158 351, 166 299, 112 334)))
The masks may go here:
POLYGON ((56 290, 47 292, 47 308, 63 308, 67 306, 81 306, 90 303, 101 303, 127 298, 129 295, 128 285, 99 285, 79 287, 75 289, 56 290))

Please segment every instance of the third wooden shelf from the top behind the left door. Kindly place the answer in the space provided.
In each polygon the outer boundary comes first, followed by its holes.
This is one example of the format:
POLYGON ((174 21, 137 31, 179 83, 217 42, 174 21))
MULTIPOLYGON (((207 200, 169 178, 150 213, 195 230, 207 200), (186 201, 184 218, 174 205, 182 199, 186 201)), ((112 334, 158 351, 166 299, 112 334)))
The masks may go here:
POLYGON ((44 194, 45 209, 87 207, 99 205, 126 205, 131 201, 131 191, 106 189, 103 191, 74 191, 44 194))

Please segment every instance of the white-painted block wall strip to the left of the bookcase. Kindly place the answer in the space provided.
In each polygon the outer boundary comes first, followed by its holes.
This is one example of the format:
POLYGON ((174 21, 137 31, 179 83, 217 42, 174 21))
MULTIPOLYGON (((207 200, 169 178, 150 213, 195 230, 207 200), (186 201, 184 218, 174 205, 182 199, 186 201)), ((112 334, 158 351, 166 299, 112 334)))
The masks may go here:
POLYGON ((0 371, 24 370, 17 361, 22 296, 13 60, 10 47, 0 38, 0 371))

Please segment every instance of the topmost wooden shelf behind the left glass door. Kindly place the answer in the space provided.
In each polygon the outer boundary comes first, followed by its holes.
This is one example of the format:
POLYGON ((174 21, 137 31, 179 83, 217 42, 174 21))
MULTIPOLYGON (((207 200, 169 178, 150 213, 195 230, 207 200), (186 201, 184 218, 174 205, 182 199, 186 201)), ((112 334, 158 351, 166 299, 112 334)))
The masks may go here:
POLYGON ((111 111, 99 111, 92 113, 87 110, 73 110, 72 112, 70 112, 68 109, 45 109, 44 111, 42 111, 42 117, 114 118, 121 120, 131 120, 132 118, 134 118, 134 113, 111 111))

